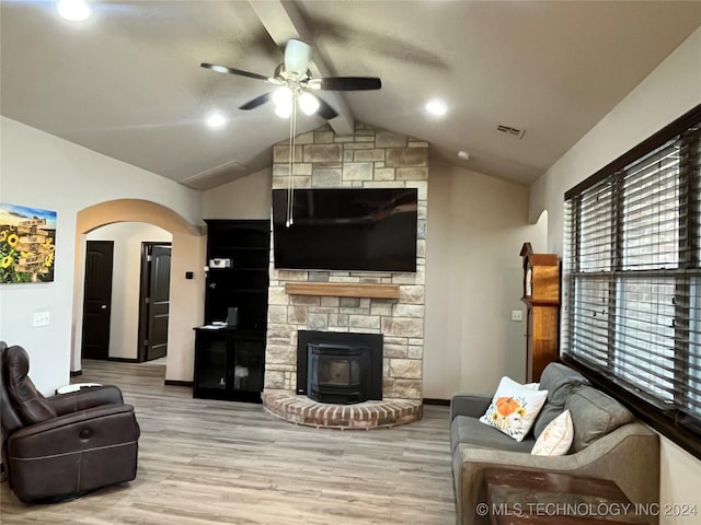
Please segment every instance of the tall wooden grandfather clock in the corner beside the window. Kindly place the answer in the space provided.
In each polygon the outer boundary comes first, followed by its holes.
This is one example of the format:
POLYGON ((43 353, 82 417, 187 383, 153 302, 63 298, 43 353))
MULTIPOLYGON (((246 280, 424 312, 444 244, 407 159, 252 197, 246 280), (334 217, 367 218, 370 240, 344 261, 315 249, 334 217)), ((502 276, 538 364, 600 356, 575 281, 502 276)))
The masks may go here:
POLYGON ((535 254, 530 243, 524 261, 526 304, 526 380, 539 382, 543 369, 560 354, 560 260, 556 254, 535 254))

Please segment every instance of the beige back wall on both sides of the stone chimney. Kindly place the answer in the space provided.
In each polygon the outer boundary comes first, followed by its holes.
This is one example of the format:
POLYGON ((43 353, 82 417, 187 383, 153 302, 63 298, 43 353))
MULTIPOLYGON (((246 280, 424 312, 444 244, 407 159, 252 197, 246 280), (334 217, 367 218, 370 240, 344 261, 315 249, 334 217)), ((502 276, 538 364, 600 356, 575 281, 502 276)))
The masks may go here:
MULTIPOLYGON (((544 224, 528 225, 528 189, 433 162, 428 184, 424 397, 490 393, 503 375, 524 380, 525 242, 545 247, 544 224)), ((271 174, 263 171, 204 194, 204 217, 266 219, 271 174)))

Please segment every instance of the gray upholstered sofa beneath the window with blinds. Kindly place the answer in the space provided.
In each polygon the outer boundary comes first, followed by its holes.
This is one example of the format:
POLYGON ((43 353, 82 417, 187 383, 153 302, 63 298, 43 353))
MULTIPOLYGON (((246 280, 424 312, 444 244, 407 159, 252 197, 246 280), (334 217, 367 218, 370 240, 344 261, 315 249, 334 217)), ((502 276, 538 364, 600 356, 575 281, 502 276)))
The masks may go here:
POLYGON ((655 432, 564 364, 545 368, 540 389, 548 390, 548 399, 522 442, 479 421, 491 396, 460 394, 452 398, 450 451, 458 524, 490 523, 489 516, 475 512, 478 503, 486 502, 484 470, 490 467, 611 479, 633 503, 659 502, 659 440, 655 432), (570 409, 574 425, 570 453, 532 456, 536 439, 565 409, 570 409))

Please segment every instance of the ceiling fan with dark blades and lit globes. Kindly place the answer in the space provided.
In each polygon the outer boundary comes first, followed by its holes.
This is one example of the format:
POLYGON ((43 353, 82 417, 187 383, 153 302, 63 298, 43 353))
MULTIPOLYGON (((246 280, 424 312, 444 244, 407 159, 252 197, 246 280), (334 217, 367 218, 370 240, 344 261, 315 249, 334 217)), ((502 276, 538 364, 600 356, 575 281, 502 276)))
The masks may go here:
POLYGON ((368 91, 382 86, 380 79, 375 77, 327 77, 314 79, 309 70, 311 47, 297 39, 290 39, 285 46, 285 61, 275 68, 273 77, 265 77, 250 71, 203 62, 200 66, 218 73, 238 74, 250 79, 263 80, 278 88, 264 93, 239 106, 239 109, 253 109, 268 101, 275 104, 275 113, 287 118, 291 115, 296 104, 307 115, 319 113, 330 120, 338 115, 323 98, 311 91, 368 91))

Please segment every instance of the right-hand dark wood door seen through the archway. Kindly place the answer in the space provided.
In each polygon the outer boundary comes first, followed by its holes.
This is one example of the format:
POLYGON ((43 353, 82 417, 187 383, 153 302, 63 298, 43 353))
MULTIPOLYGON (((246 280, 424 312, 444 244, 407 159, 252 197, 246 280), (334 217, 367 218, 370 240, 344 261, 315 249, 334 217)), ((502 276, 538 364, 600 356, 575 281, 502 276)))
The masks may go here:
POLYGON ((171 246, 150 244, 148 265, 146 360, 168 353, 168 319, 170 313, 171 246))

